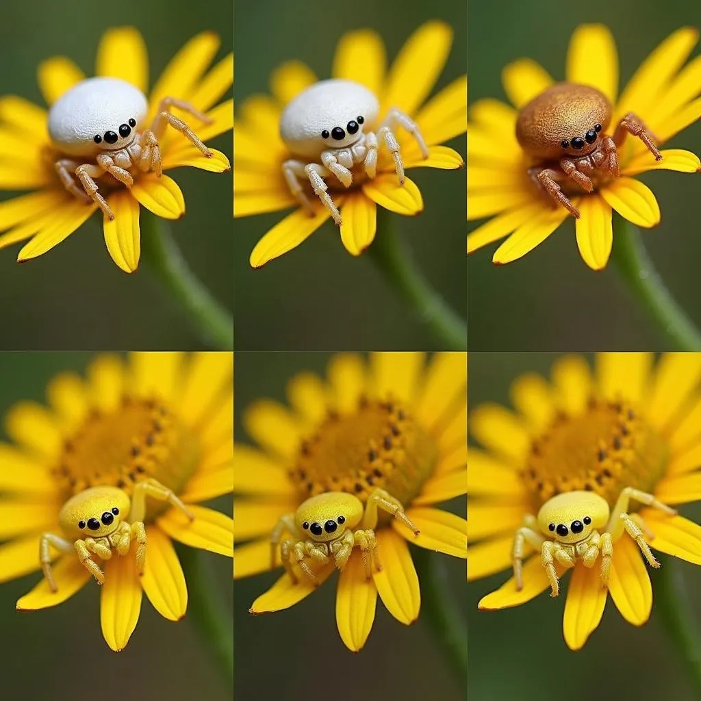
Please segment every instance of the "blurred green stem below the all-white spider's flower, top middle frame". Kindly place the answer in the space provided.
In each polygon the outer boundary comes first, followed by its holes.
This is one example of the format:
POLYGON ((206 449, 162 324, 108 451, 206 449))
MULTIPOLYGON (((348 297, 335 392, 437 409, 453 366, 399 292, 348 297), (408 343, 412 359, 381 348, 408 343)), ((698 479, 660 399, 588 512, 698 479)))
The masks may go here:
POLYGON ((369 256, 397 294, 404 299, 449 351, 467 351, 468 328, 431 287, 411 260, 394 228, 393 215, 377 208, 377 233, 369 256))

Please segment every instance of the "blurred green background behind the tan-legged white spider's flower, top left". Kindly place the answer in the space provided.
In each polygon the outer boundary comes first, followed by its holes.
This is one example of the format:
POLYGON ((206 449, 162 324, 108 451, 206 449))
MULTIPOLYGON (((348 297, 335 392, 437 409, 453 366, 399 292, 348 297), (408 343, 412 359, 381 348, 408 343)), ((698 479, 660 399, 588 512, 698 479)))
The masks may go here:
MULTIPOLYGON (((22 95, 43 106, 36 86, 39 63, 66 55, 92 75, 102 32, 121 25, 134 25, 144 35, 151 85, 177 50, 204 29, 222 38, 217 60, 233 46, 232 0, 10 0, 3 3, 0 21, 0 94, 22 95)), ((231 134, 211 144, 231 159, 231 134)), ((231 307, 231 172, 178 168, 169 175, 187 206, 186 216, 170 223, 173 236, 193 272, 231 307)), ((0 198, 11 195, 1 192, 0 198)), ((128 275, 112 262, 97 215, 22 265, 15 262, 20 247, 0 251, 0 348, 200 348, 198 336, 143 264, 128 275)))

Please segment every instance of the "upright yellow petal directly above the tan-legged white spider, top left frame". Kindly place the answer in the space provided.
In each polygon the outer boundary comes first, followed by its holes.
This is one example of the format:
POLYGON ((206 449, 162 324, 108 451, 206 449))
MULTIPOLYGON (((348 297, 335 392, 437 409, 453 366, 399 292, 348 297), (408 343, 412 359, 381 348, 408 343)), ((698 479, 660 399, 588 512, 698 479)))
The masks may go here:
POLYGON ((95 75, 120 78, 139 88, 149 87, 149 57, 144 38, 134 27, 107 29, 100 39, 95 75))

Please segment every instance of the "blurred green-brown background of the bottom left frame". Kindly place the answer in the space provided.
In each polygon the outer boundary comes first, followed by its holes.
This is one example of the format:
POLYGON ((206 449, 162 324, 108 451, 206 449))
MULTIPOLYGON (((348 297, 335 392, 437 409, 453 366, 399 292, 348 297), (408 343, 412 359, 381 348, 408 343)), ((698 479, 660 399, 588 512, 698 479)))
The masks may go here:
MULTIPOLYGON (((44 401, 46 383, 57 372, 83 373, 89 353, 0 353, 0 416, 14 402, 44 401)), ((1 440, 6 440, 4 433, 1 440)), ((0 466, 1 467, 1 466, 0 466)), ((231 500, 212 503, 231 513, 231 500)), ((231 615, 231 560, 203 552, 231 615)), ((39 541, 37 540, 37 557, 39 541)), ((17 699, 94 701, 97 695, 130 701, 231 700, 189 618, 174 623, 154 611, 147 597, 128 646, 112 652, 100 630, 100 591, 90 582, 66 603, 18 613, 15 602, 39 582, 41 573, 0 584, 1 696, 17 699)))

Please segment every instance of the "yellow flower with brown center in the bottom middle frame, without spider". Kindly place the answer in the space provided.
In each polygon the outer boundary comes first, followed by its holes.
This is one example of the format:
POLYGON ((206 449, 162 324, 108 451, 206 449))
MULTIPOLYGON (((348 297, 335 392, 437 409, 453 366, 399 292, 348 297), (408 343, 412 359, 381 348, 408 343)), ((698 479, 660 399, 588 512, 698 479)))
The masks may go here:
MULTIPOLYGON (((424 363, 424 353, 375 353, 369 365, 358 355, 336 355, 327 382, 311 373, 292 378, 292 409, 271 400, 248 407, 244 425, 261 448, 234 446, 234 540, 252 540, 234 550, 237 578, 271 568, 273 526, 315 494, 348 491, 365 503, 379 487, 402 502, 420 529, 415 537, 381 517, 376 535, 383 569, 372 580, 353 550, 336 594, 336 623, 353 651, 370 633, 377 594, 405 625, 418 618, 418 577, 407 542, 466 554, 465 519, 435 504, 465 494, 467 486, 467 358, 438 353, 424 363)), ((325 580, 333 563, 315 571, 325 580)), ((280 611, 314 590, 304 576, 294 584, 285 574, 250 611, 280 611)))

